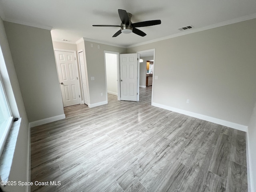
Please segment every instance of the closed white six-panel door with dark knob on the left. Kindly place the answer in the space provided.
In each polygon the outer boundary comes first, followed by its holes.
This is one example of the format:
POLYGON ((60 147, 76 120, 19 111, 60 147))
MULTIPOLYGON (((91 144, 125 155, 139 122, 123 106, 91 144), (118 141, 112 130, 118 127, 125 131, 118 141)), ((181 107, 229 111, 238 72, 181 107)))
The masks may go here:
POLYGON ((64 107, 80 104, 74 52, 55 51, 64 107))

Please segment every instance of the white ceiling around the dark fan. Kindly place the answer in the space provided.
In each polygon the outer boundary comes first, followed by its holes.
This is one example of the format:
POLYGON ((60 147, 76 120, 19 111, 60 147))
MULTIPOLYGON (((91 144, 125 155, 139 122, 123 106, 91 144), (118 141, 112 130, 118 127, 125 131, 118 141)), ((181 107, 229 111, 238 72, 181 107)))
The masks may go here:
MULTIPOLYGON (((131 46, 256 18, 256 0, 0 0, 3 20, 52 29, 52 40, 76 43, 82 37, 107 44, 131 46), (118 9, 132 14, 132 22, 160 19, 162 24, 142 27, 145 37, 120 34, 118 9), (194 28, 179 31, 192 25, 194 28)), ((255 27, 255 26, 254 26, 255 27)))

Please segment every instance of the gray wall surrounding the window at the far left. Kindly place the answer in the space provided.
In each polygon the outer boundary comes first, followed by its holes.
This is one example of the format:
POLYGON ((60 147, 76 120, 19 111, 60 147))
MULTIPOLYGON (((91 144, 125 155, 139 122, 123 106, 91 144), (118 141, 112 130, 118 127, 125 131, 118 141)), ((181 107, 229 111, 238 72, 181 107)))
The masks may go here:
MULTIPOLYGON (((0 18, 0 46, 4 56, 4 63, 1 62, 0 64, 0 73, 4 81, 4 86, 8 97, 8 101, 10 103, 10 108, 12 110, 14 117, 22 118, 22 123, 20 125, 20 130, 18 133, 9 180, 26 182, 27 177, 29 177, 29 175, 27 175, 27 164, 29 162, 28 118, 26 115, 22 94, 20 92, 20 86, 12 61, 12 54, 10 52, 10 48, 6 38, 6 32, 4 30, 2 18, 0 18)), ((4 188, 4 190, 6 192, 24 192, 26 188, 25 186, 21 187, 17 185, 7 186, 4 188)))

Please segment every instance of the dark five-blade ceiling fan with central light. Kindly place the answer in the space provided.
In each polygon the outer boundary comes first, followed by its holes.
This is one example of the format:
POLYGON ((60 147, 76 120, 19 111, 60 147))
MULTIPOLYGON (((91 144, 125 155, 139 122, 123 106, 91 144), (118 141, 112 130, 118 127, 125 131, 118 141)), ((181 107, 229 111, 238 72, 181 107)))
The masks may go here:
POLYGON ((137 29, 136 27, 146 27, 146 26, 152 26, 152 25, 159 25, 161 24, 161 20, 151 20, 151 21, 143 21, 138 23, 132 23, 131 17, 132 14, 127 13, 126 10, 118 9, 119 17, 122 21, 121 25, 92 25, 94 27, 121 27, 121 29, 116 32, 112 37, 116 37, 120 35, 121 33, 135 33, 139 36, 146 36, 146 33, 143 31, 137 29))

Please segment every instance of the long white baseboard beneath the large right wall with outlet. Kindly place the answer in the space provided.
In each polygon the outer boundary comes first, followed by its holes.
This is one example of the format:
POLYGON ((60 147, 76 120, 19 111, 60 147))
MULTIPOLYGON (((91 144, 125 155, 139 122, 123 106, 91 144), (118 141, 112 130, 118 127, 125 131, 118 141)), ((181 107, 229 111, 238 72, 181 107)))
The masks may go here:
POLYGON ((223 126, 234 128, 234 129, 237 129, 237 130, 240 130, 240 131, 248 132, 248 126, 245 126, 245 125, 229 122, 229 121, 226 121, 226 120, 222 120, 222 119, 218 119, 218 118, 214 118, 214 117, 210 117, 210 116, 206 116, 206 115, 202 115, 202 114, 198 114, 198 113, 194 113, 194 112, 190 112, 190 111, 186 111, 186 110, 182 110, 182 109, 178 109, 178 108, 173 108, 173 107, 158 104, 158 103, 155 103, 155 102, 152 102, 152 106, 167 109, 167 110, 170 110, 170 111, 173 111, 173 112, 181 113, 181 114, 188 115, 188 116, 191 116, 191 117, 195 117, 195 118, 198 118, 198 119, 206 120, 206 121, 209 121, 209 122, 213 122, 213 123, 216 123, 216 124, 220 124, 220 125, 223 125, 223 126))

